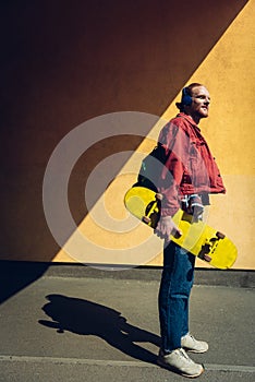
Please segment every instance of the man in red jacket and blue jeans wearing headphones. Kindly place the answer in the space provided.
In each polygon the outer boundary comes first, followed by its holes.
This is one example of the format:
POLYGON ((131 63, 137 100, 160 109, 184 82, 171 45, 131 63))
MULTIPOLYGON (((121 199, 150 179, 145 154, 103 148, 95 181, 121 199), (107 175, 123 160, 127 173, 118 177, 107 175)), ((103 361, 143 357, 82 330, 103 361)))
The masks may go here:
POLYGON ((172 222, 180 206, 201 218, 209 193, 224 193, 219 169, 203 138, 198 123, 208 117, 210 96, 207 88, 193 83, 182 91, 180 114, 160 132, 166 165, 159 179, 161 216, 155 232, 163 238, 163 271, 159 288, 161 348, 158 363, 184 377, 198 377, 204 368, 186 351, 205 353, 206 342, 189 332, 189 299, 193 285, 195 256, 172 241, 170 234, 182 235, 172 222))

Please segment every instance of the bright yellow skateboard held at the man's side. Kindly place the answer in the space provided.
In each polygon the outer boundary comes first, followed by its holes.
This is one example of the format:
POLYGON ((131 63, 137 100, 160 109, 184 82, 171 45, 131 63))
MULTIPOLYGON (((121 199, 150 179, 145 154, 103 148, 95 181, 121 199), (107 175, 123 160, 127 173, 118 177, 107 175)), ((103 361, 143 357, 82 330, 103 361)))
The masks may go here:
MULTIPOLYGON (((132 187, 124 196, 124 204, 132 215, 156 228, 160 194, 144 187, 132 187)), ((172 219, 182 231, 179 238, 171 235, 172 241, 217 268, 227 270, 233 265, 238 250, 226 235, 182 210, 172 219)))

